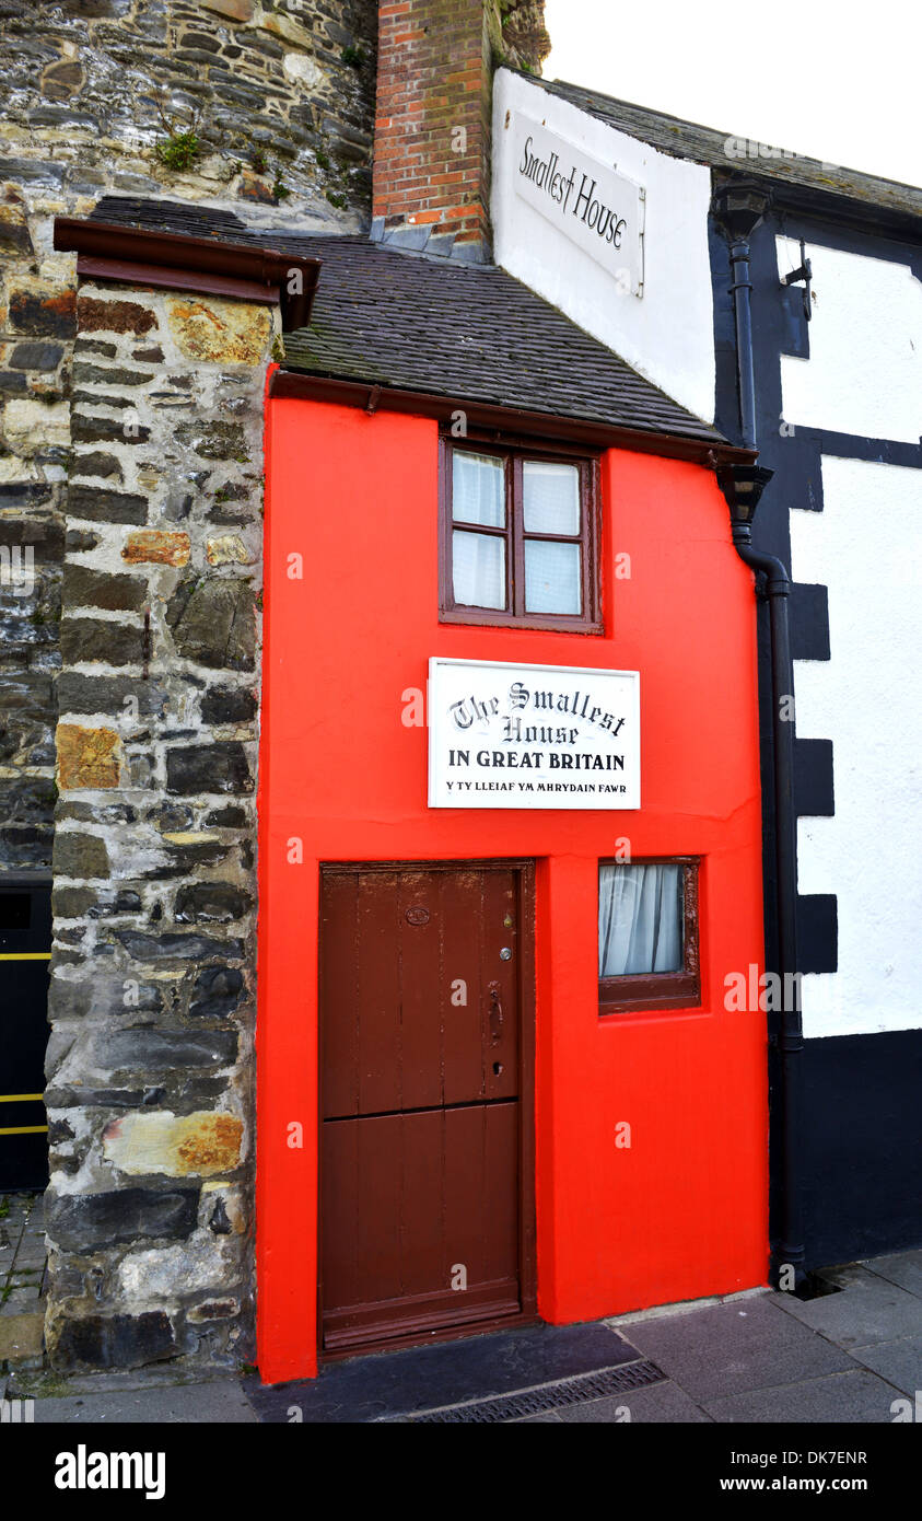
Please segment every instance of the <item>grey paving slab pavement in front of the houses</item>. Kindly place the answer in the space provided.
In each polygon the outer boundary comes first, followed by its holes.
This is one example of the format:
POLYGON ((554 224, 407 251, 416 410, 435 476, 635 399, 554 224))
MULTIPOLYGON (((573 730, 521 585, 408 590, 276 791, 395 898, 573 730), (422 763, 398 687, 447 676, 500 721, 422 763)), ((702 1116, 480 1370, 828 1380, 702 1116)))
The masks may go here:
POLYGON ((453 1419, 473 1421, 476 1402, 498 1392, 548 1390, 609 1367, 651 1381, 539 1415, 510 1410, 502 1424, 892 1422, 895 1401, 905 1405, 922 1389, 922 1252, 841 1264, 823 1276, 838 1291, 812 1300, 764 1290, 586 1326, 523 1328, 354 1358, 286 1386, 224 1370, 193 1383, 161 1364, 81 1375, 65 1387, 59 1377, 14 1373, 6 1395, 35 1395, 37 1424, 253 1425, 291 1422, 292 1408, 320 1424, 368 1422, 388 1410, 412 1419, 452 1401, 467 1407, 453 1419), (341 1396, 351 1410, 341 1408, 341 1396))

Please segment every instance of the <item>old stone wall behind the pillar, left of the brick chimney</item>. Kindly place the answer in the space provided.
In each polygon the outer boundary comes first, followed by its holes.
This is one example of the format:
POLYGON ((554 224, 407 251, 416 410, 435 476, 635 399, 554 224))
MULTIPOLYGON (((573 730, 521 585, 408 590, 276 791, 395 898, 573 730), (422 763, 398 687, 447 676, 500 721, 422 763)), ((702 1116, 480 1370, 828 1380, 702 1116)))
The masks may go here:
POLYGON ((367 225, 376 30, 374 0, 0 0, 0 872, 52 852, 75 335, 53 218, 116 193, 367 225))

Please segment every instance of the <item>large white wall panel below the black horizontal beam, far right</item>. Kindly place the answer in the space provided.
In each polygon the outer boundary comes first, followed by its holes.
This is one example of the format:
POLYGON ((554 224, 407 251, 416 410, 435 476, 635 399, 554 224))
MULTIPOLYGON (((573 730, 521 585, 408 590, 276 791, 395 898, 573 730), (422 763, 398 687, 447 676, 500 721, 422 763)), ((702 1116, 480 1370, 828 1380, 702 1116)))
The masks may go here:
POLYGON ((799 824, 799 891, 838 899, 838 972, 803 978, 805 1034, 917 1028, 922 470, 823 456, 823 511, 791 513, 791 566, 829 589, 831 660, 796 662, 794 695, 797 736, 832 739, 835 768, 835 817, 799 824))

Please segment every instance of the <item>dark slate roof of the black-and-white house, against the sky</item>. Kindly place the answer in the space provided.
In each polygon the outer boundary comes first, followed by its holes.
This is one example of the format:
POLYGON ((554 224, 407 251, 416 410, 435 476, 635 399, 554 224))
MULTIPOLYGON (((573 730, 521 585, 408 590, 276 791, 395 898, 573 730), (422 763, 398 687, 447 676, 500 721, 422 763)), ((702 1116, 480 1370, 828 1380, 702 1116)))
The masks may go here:
MULTIPOLYGON (((510 73, 520 73, 520 70, 510 70, 510 73)), ((861 207, 864 211, 876 208, 899 219, 922 218, 922 189, 916 186, 881 179, 857 169, 843 169, 840 164, 825 164, 817 158, 806 158, 803 154, 796 154, 791 158, 750 158, 749 155, 732 158, 727 154, 727 140, 736 138, 738 134, 718 132, 711 126, 683 122, 665 111, 651 111, 648 106, 616 100, 613 96, 584 90, 583 85, 571 85, 560 79, 539 79, 536 75, 522 75, 522 78, 546 90, 548 94, 569 100, 580 111, 607 122, 609 126, 616 126, 630 137, 650 143, 672 158, 691 158, 694 163, 707 164, 724 173, 771 179, 779 189, 785 187, 790 193, 799 192, 796 199, 800 202, 805 202, 808 195, 823 199, 838 196, 854 202, 854 208, 861 207)), ((768 146, 788 148, 787 143, 768 146)))

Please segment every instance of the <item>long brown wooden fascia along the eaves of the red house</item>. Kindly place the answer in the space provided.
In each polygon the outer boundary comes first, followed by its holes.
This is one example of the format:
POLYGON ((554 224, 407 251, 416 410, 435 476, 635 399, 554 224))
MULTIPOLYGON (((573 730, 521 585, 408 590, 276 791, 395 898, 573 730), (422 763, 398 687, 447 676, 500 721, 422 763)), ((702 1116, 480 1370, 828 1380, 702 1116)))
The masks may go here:
POLYGON ((557 412, 529 412, 514 406, 488 406, 459 397, 435 395, 429 391, 405 391, 397 386, 361 380, 335 380, 295 370, 275 370, 269 379, 269 397, 307 402, 338 402, 361 406, 367 412, 405 412, 450 423, 452 414, 464 412, 469 427, 494 429, 498 433, 531 433, 536 438, 566 440, 595 449, 630 449, 636 453, 689 459, 715 470, 727 464, 755 464, 758 452, 738 449, 720 440, 686 438, 682 433, 657 433, 647 429, 593 423, 557 412))

